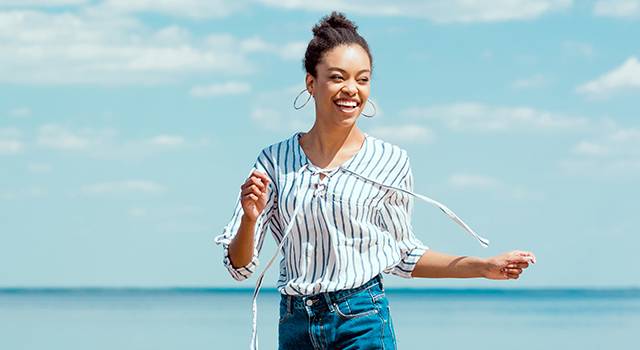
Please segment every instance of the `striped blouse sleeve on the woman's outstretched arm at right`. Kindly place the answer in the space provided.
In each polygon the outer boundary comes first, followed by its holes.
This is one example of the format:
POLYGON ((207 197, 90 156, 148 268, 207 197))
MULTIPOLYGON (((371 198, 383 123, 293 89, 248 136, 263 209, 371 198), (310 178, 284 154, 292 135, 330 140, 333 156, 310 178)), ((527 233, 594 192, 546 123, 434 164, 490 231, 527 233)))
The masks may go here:
MULTIPOLYGON (((413 173, 408 158, 404 169, 399 183, 394 186, 413 192, 413 173)), ((391 189, 383 200, 380 211, 381 226, 395 239, 396 247, 400 252, 398 264, 389 267, 385 272, 403 278, 412 278, 411 272, 418 260, 429 249, 414 235, 411 225, 413 201, 412 195, 391 189)))

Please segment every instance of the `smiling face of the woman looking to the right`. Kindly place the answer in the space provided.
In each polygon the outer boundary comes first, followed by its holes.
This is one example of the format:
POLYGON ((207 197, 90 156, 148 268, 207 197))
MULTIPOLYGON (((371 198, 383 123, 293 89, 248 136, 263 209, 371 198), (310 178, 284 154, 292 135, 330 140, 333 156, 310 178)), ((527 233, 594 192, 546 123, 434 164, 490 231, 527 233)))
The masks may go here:
POLYGON ((324 53, 314 78, 307 73, 307 90, 314 96, 316 115, 324 121, 349 126, 369 98, 371 62, 357 44, 340 45, 324 53))

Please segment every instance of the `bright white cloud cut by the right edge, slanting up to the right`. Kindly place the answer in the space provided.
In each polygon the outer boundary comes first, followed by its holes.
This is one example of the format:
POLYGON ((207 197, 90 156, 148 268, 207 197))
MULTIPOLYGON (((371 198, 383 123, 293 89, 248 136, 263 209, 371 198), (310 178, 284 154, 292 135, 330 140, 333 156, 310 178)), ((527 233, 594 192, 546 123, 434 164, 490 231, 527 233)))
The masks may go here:
POLYGON ((640 62, 636 57, 630 57, 620 67, 578 86, 576 91, 583 94, 604 95, 613 90, 629 88, 640 88, 640 62))

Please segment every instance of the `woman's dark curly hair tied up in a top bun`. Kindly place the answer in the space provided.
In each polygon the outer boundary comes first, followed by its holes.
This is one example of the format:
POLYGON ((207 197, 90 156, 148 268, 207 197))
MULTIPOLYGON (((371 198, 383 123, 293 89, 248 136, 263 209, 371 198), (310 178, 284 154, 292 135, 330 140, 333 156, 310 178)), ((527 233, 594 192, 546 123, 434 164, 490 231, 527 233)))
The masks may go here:
POLYGON ((348 20, 341 12, 333 11, 330 15, 322 17, 320 22, 313 27, 313 39, 309 41, 307 51, 304 53, 303 64, 307 73, 314 78, 317 77, 316 65, 322 60, 322 55, 336 46, 349 44, 360 45, 367 52, 373 70, 373 58, 369 51, 369 45, 358 34, 357 29, 358 26, 348 20))

